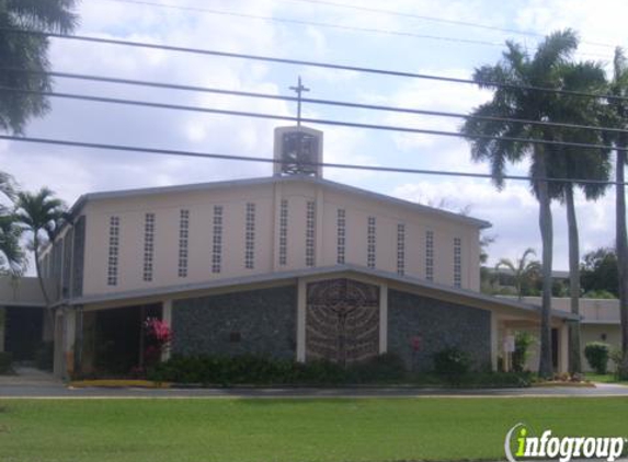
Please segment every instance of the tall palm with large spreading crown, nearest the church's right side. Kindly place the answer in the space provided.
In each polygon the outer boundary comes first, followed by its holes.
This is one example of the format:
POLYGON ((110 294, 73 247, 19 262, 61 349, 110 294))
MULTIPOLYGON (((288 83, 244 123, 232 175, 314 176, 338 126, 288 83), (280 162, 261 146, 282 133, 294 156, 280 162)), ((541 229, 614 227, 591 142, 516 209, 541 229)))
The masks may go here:
MULTIPOLYGON (((526 86, 558 89, 561 86, 560 69, 569 62, 571 54, 578 47, 578 37, 571 30, 556 32, 547 36, 530 57, 524 48, 506 42, 503 59, 494 66, 483 66, 476 70, 473 79, 480 88, 494 85, 483 82, 501 83, 494 89, 490 102, 477 107, 473 116, 509 117, 522 120, 551 122, 552 105, 558 96, 549 92, 527 90, 526 86)), ((539 374, 552 374, 551 355, 551 266, 552 266, 552 221, 551 192, 547 181, 551 150, 547 145, 512 142, 501 139, 479 138, 478 136, 535 138, 553 140, 556 130, 547 126, 530 123, 509 123, 500 119, 469 118, 461 131, 471 143, 471 157, 475 161, 488 160, 491 164, 493 183, 498 188, 504 186, 504 171, 507 162, 530 161, 532 190, 539 203, 539 228, 543 241, 543 303, 540 325, 539 374)))

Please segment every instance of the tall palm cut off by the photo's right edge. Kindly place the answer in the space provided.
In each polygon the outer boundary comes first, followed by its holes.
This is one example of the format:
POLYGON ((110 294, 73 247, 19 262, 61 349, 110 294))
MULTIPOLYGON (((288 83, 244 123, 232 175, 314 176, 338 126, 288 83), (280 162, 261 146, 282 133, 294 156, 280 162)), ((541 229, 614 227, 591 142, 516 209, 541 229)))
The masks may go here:
MULTIPOLYGON (((609 93, 615 96, 628 96, 628 62, 621 48, 615 50, 614 74, 609 85, 609 93)), ((609 99, 608 106, 617 128, 628 129, 628 104, 625 100, 609 99)), ((616 134, 612 137, 616 149, 615 180, 617 182, 615 194, 615 227, 617 274, 619 291, 619 310, 621 317, 621 353, 623 360, 619 376, 628 378, 628 233, 626 232, 626 188, 624 186, 624 168, 628 163, 628 135, 616 134)))

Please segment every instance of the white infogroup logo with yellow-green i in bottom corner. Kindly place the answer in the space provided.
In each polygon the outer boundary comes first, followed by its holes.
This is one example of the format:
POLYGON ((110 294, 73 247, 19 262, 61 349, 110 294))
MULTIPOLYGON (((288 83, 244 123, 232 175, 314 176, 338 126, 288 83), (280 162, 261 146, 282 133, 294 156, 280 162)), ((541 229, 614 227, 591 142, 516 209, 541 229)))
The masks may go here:
POLYGON ((623 454, 626 441, 621 437, 555 437, 551 430, 544 430, 540 437, 536 437, 530 435, 525 424, 519 423, 506 434, 504 450, 509 462, 537 458, 558 459, 560 462, 569 462, 573 458, 613 462, 623 454))

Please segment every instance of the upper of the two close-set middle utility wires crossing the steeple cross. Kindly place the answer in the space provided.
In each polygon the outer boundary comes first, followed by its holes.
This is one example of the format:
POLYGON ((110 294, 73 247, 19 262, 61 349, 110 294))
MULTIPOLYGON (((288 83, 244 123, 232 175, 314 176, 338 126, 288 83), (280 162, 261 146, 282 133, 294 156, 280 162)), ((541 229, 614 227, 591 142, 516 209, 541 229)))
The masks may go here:
MULTIPOLYGON (((38 71, 38 70, 18 69, 18 68, 10 68, 10 67, 2 67, 2 66, 0 66, 0 71, 30 73, 30 74, 48 76, 48 77, 58 77, 58 78, 64 78, 64 79, 87 80, 87 81, 94 81, 94 82, 119 83, 119 84, 128 84, 128 85, 137 85, 137 86, 149 86, 149 88, 167 89, 167 90, 181 90, 181 91, 191 91, 191 92, 224 94, 224 95, 230 95, 230 96, 246 96, 246 97, 255 97, 255 99, 265 99, 265 100, 275 100, 275 101, 290 101, 290 102, 299 101, 299 97, 297 97, 297 96, 284 96, 284 95, 269 94, 269 93, 246 92, 246 91, 239 91, 239 90, 226 90, 226 89, 216 89, 216 88, 208 88, 208 86, 182 85, 182 84, 176 84, 176 83, 153 82, 153 81, 147 81, 147 80, 121 79, 121 78, 115 78, 115 77, 102 77, 102 76, 94 76, 94 74, 57 72, 57 71, 38 71)), ((300 101, 302 103, 341 106, 341 107, 353 107, 353 108, 361 108, 361 109, 368 109, 368 111, 385 111, 385 112, 393 112, 393 113, 426 115, 426 116, 434 116, 434 117, 478 119, 478 120, 489 120, 489 122, 506 122, 506 123, 515 123, 515 124, 536 125, 539 127, 568 128, 568 129, 628 134, 628 130, 621 129, 621 128, 615 128, 615 127, 601 127, 601 126, 593 126, 593 125, 579 125, 579 124, 557 123, 557 122, 529 120, 529 119, 511 118, 511 117, 478 116, 478 115, 471 115, 471 114, 452 113, 452 112, 444 112, 444 111, 414 109, 414 108, 410 108, 410 107, 385 106, 385 105, 378 105, 378 104, 363 104, 363 103, 352 103, 352 102, 335 101, 335 100, 320 100, 320 99, 311 99, 311 97, 300 97, 300 101)))

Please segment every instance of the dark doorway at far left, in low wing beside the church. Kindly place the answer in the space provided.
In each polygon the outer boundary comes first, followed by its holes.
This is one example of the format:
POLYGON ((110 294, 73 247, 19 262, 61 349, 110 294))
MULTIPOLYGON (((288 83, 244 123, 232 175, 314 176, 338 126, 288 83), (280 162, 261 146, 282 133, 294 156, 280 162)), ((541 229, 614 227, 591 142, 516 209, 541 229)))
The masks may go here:
POLYGON ((33 361, 42 346, 44 309, 8 307, 4 326, 4 350, 15 361, 33 361))

